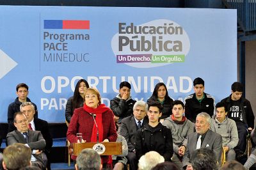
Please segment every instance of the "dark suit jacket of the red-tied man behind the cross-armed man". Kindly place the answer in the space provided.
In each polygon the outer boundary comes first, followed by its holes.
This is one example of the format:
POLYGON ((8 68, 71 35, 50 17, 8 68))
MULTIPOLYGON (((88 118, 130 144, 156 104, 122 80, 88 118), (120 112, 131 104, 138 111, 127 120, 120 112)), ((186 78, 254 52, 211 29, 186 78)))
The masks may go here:
MULTIPOLYGON (((49 131, 48 123, 45 120, 41 120, 39 118, 34 118, 35 129, 40 131, 45 139, 45 153, 48 154, 52 148, 52 136, 49 131)), ((9 123, 8 132, 12 132, 13 130, 17 130, 17 128, 13 125, 13 123, 9 123)))

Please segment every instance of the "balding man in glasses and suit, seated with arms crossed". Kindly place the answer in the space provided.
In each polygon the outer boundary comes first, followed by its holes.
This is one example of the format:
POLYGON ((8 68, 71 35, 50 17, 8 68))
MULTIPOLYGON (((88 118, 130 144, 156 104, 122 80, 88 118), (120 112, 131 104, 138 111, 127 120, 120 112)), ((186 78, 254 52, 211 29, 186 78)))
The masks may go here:
POLYGON ((14 125, 17 130, 6 136, 8 146, 15 143, 23 143, 32 150, 31 162, 33 166, 45 169, 46 156, 42 153, 45 148, 45 140, 40 131, 29 130, 28 119, 22 112, 14 114, 14 125))

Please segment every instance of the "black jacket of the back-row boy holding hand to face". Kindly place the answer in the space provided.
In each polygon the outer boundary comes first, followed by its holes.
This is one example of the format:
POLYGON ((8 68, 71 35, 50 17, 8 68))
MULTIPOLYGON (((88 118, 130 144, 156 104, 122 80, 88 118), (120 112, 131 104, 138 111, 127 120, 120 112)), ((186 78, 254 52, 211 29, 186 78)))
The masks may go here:
POLYGON ((120 97, 115 97, 110 100, 110 109, 113 111, 115 116, 118 116, 120 120, 122 120, 122 118, 126 118, 132 115, 132 108, 135 103, 136 101, 132 100, 132 98, 124 100, 120 97))

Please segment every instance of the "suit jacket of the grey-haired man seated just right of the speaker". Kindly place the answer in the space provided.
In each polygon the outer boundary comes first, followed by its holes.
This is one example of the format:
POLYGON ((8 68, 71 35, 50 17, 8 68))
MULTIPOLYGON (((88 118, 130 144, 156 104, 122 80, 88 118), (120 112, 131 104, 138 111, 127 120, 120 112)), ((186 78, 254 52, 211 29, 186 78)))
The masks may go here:
MULTIPOLYGON (((142 127, 148 123, 148 117, 143 119, 142 127)), ((120 127, 120 135, 124 136, 127 141, 129 151, 135 150, 135 137, 138 127, 134 116, 128 116, 122 119, 122 125, 120 127)))

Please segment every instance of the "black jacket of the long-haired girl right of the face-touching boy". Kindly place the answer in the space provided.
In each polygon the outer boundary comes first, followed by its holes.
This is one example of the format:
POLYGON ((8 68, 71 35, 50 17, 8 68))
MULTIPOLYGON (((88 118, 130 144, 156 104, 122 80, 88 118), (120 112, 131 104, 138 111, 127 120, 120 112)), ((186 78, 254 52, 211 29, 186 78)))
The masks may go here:
MULTIPOLYGON (((152 96, 152 97, 148 98, 147 104, 149 104, 150 102, 156 102, 156 101, 158 101, 157 98, 152 96)), ((163 111, 162 111, 162 116, 160 117, 160 119, 168 118, 172 114, 172 103, 173 103, 172 98, 170 98, 170 97, 165 98, 164 103, 162 104, 163 111)))

